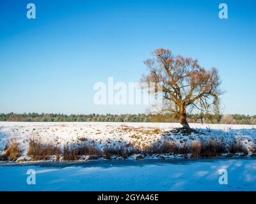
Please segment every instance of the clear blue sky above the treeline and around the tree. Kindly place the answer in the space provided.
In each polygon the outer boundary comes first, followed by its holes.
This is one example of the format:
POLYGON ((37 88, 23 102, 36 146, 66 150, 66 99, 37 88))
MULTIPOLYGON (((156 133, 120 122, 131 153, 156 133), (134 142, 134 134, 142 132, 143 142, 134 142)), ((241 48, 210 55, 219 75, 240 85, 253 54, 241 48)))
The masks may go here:
POLYGON ((256 114, 253 0, 1 0, 0 19, 1 113, 142 113, 93 105, 93 84, 140 80, 143 60, 164 47, 219 69, 225 113, 256 114))

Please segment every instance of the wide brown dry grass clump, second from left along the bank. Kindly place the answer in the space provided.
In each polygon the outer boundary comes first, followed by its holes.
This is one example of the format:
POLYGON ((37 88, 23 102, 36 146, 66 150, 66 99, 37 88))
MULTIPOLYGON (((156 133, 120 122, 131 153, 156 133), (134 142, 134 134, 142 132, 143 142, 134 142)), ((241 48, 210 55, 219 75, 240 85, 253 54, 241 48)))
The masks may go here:
POLYGON ((44 144, 40 140, 29 140, 28 156, 31 161, 49 160, 51 156, 56 156, 56 160, 60 159, 60 148, 52 144, 44 144))

